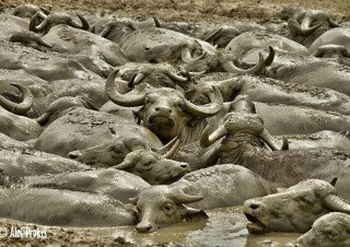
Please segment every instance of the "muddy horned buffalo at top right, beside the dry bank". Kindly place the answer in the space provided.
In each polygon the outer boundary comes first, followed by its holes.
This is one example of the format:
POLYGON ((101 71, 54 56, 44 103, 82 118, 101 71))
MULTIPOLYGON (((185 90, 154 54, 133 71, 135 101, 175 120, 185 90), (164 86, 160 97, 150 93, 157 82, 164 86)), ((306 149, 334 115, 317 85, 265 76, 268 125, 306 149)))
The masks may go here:
POLYGON ((325 32, 339 25, 324 11, 303 10, 288 20, 288 38, 310 47, 325 32))

